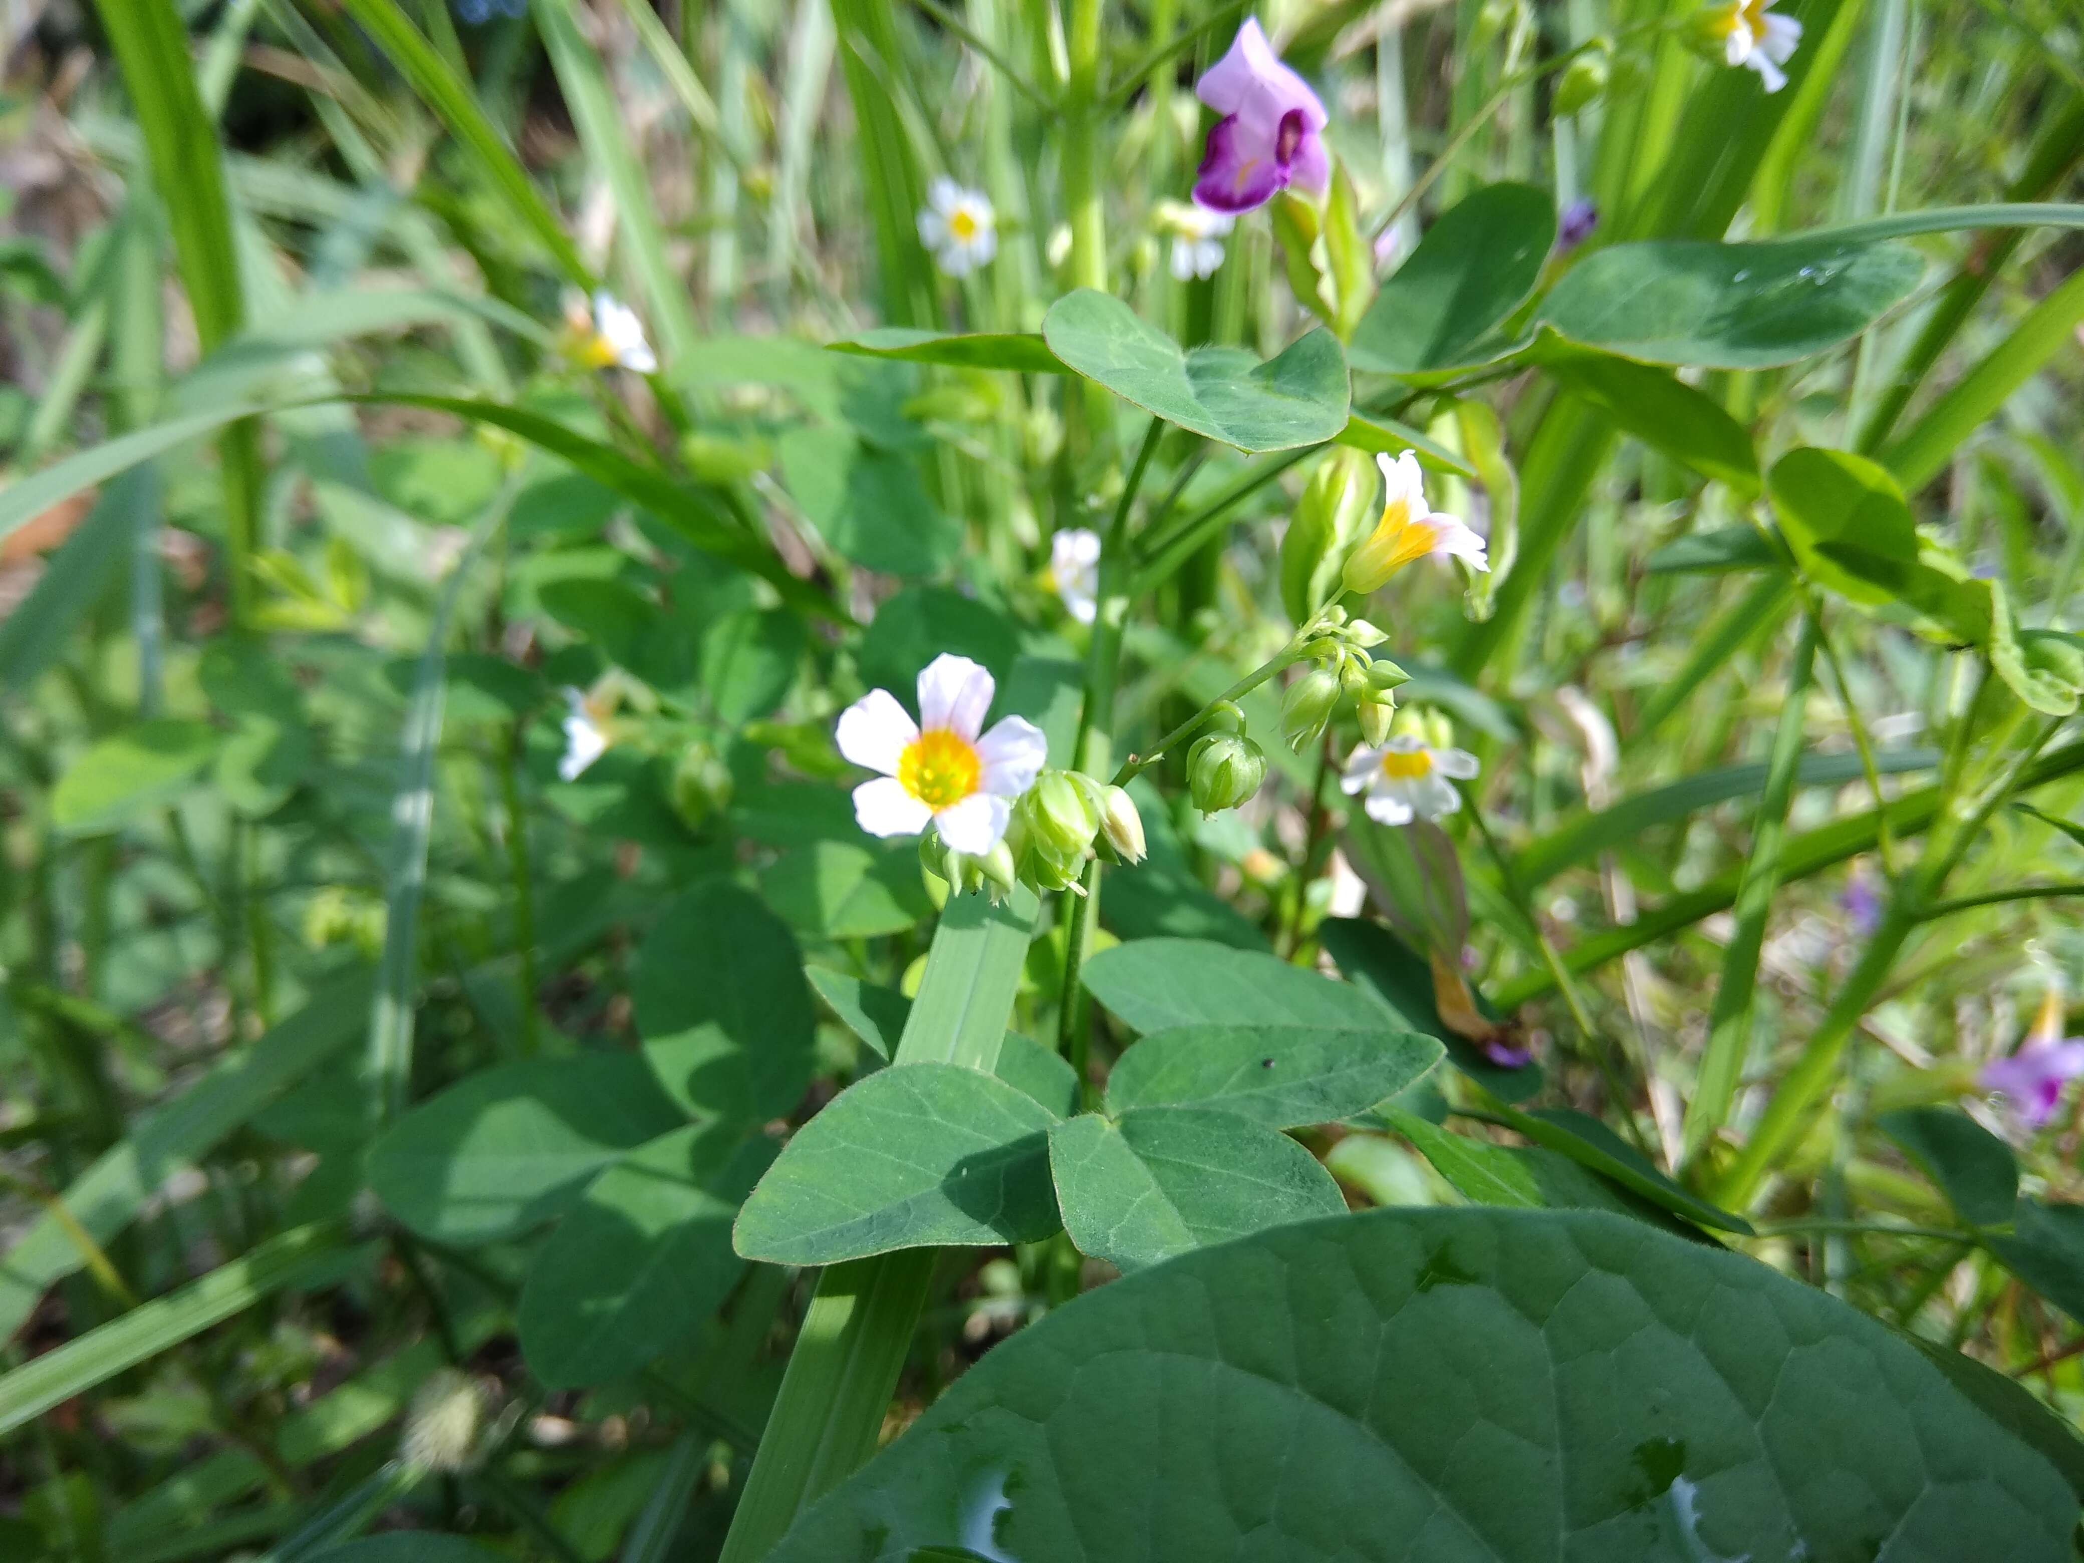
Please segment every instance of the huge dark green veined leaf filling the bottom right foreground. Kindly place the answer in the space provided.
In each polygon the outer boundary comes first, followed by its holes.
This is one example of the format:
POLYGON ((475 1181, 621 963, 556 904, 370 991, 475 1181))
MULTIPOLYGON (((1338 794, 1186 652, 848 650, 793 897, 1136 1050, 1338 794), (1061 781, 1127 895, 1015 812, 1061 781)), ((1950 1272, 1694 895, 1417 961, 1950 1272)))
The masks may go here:
POLYGON ((2059 1563, 2076 1519, 1915 1346, 1751 1259, 1371 1211, 1052 1313, 769 1563, 2059 1563))

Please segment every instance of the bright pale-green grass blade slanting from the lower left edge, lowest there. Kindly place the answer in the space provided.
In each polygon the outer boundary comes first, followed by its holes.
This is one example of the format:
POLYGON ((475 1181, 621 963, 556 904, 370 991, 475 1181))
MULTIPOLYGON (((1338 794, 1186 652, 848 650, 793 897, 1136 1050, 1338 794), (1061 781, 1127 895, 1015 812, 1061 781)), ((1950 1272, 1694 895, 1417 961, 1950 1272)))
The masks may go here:
POLYGON ((0 1375, 0 1434, 294 1286, 344 1246, 340 1221, 290 1227, 202 1280, 33 1357, 0 1375))

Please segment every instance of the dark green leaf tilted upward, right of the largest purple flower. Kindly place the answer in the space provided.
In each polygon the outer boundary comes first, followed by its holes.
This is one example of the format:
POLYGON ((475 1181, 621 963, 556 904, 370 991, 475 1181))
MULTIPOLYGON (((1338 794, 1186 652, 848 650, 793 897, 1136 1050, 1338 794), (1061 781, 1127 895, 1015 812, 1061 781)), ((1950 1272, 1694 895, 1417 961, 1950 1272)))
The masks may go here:
POLYGON ((1555 242, 1548 192, 1484 185, 1382 283, 1353 333, 1353 367, 1423 383, 1505 356, 1513 344, 1498 327, 1534 292, 1555 242))

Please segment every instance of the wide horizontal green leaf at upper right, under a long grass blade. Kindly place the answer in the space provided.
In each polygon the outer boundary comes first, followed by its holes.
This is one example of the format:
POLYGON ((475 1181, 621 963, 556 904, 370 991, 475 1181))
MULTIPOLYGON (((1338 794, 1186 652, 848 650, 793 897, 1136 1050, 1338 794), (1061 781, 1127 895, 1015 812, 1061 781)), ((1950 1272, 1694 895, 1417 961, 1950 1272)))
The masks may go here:
POLYGON ((1899 244, 1615 244, 1571 267, 1538 319, 1623 358, 1767 369, 1859 336, 1924 269, 1899 244))

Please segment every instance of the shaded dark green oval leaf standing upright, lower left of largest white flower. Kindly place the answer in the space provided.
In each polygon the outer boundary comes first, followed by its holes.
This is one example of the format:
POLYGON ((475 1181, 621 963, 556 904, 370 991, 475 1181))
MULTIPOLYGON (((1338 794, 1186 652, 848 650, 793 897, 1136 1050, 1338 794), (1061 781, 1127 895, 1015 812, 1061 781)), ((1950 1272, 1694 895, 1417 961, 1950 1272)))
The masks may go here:
POLYGON ((817 1009, 788 925, 727 879, 675 900, 644 940, 644 1057, 696 1117, 761 1123, 811 1084, 817 1009))

